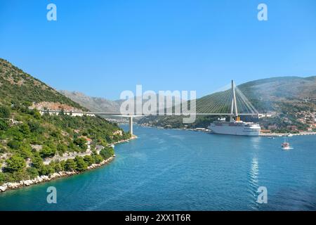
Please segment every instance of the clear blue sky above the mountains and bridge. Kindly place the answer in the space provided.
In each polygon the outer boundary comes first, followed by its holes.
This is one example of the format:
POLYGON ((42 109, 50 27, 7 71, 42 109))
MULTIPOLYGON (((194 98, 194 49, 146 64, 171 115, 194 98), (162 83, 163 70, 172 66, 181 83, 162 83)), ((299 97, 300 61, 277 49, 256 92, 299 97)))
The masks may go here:
POLYGON ((316 75, 316 1, 0 0, 0 58, 90 96, 136 84, 204 96, 230 79, 316 75))

